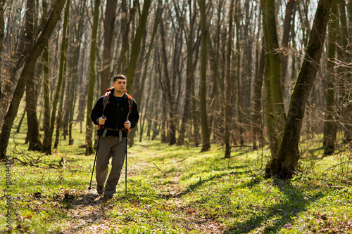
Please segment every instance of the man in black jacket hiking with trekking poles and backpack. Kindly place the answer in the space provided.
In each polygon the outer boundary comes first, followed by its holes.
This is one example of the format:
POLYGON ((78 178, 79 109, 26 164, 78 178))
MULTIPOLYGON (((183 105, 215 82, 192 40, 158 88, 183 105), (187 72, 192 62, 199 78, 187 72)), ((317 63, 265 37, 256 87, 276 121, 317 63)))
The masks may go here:
POLYGON ((125 93, 127 79, 118 74, 113 77, 113 88, 101 96, 94 105, 91 119, 100 125, 101 139, 96 156, 96 191, 111 199, 115 193, 121 169, 125 161, 127 131, 136 126, 139 113, 137 103, 125 93), (111 171, 108 175, 108 163, 111 159, 111 171), (104 184, 106 186, 104 188, 104 184))

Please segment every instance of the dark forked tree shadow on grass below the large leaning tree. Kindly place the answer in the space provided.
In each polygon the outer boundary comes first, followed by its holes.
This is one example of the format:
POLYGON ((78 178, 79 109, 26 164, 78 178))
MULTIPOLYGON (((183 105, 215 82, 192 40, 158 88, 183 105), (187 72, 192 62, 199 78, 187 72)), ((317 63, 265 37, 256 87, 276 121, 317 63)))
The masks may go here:
POLYGON ((265 226, 264 233, 277 233, 282 228, 289 228, 294 217, 312 202, 320 200, 322 193, 316 193, 307 198, 303 191, 298 190, 291 184, 291 181, 275 183, 275 186, 282 191, 288 198, 286 201, 279 200, 279 203, 271 207, 263 206, 263 211, 256 215, 253 214, 246 221, 237 221, 228 228, 225 233, 249 233, 256 228, 265 226), (275 219, 274 219, 275 218, 275 219))

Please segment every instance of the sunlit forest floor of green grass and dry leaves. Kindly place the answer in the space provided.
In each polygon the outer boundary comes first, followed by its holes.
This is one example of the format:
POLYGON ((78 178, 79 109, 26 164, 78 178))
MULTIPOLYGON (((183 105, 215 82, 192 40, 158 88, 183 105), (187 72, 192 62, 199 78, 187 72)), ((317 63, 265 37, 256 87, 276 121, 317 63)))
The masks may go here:
POLYGON ((145 139, 128 149, 127 193, 124 168, 117 193, 102 201, 94 179, 88 190, 94 155, 84 148, 63 141, 43 155, 12 141, 0 233, 352 233, 351 152, 312 147, 282 181, 264 177, 267 148, 235 146, 225 160, 216 145, 200 152, 145 139))

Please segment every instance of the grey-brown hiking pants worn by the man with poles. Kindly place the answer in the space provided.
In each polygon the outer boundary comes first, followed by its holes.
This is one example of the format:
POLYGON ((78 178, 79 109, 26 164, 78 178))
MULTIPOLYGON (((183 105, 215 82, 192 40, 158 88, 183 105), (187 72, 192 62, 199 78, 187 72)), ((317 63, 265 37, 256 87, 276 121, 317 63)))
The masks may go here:
POLYGON ((118 180, 120 179, 121 169, 125 161, 126 138, 122 137, 119 141, 118 136, 101 137, 96 157, 96 183, 103 186, 108 176, 108 164, 110 157, 111 171, 106 181, 104 194, 112 197, 116 191, 118 180))

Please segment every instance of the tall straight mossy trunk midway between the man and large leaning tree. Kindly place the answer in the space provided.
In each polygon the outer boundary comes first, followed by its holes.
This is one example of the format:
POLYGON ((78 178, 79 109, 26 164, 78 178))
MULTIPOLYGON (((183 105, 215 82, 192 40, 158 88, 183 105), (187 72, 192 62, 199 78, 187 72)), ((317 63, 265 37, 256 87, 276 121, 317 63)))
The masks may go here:
POLYGON ((207 40, 208 29, 206 27, 206 0, 199 0, 199 10, 201 12, 201 74, 199 81, 199 102, 201 107, 201 152, 210 149, 210 134, 208 126, 208 112, 206 108, 206 65, 207 65, 207 40))

